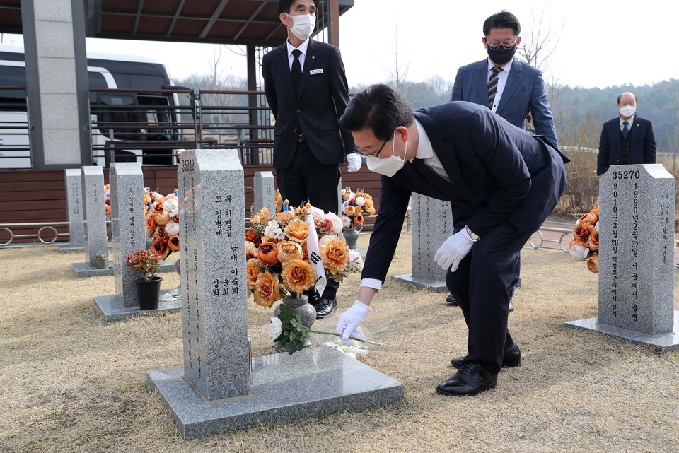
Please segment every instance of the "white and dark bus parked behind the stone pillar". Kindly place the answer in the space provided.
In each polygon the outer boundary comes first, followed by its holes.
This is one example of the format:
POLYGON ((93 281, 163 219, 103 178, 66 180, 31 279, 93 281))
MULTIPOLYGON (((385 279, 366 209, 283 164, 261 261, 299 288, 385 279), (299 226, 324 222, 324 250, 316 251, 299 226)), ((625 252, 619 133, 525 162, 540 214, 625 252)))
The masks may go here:
MULTIPOLYGON (((87 71, 90 89, 125 90, 90 91, 92 164, 108 165, 104 150, 112 148, 117 161, 174 165, 173 149, 158 142, 182 139, 178 95, 151 91, 174 88, 165 66, 145 57, 88 52, 87 71), (116 143, 134 144, 120 149, 116 143)), ((0 168, 31 168, 26 92, 2 87, 31 89, 23 47, 0 45, 0 168)))

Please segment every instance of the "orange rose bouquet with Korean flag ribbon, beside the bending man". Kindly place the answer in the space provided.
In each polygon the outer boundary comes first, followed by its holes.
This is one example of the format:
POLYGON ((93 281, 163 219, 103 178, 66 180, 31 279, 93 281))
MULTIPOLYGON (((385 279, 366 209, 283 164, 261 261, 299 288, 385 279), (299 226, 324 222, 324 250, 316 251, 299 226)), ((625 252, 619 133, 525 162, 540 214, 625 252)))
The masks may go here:
POLYGON ((245 232, 248 287, 262 307, 313 287, 319 278, 318 263, 323 264, 325 278, 342 281, 349 273, 349 247, 338 235, 340 217, 310 204, 289 208, 281 201, 279 206, 277 213, 270 213, 269 208, 253 213, 245 232), (310 235, 308 218, 313 220, 315 235, 310 235), (318 248, 320 260, 309 257, 310 237, 318 240, 311 248, 318 248))

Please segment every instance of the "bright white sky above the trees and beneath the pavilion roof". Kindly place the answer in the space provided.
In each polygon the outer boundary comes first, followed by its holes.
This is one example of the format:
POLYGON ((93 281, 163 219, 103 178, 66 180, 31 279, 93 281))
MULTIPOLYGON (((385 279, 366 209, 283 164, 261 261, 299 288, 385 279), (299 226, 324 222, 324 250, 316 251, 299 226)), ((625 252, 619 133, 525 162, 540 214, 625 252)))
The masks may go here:
MULTIPOLYGON (((482 25, 508 9, 531 32, 551 29, 554 52, 541 67, 547 81, 583 88, 646 85, 679 78, 674 0, 354 0, 340 17, 340 50, 349 86, 440 76, 454 81, 460 66, 487 56, 482 25), (542 20, 540 20, 542 16, 542 20), (396 54, 398 52, 398 58, 396 54)), ((16 42, 21 44, 21 42, 16 42)), ((163 63, 175 79, 211 71, 219 47, 193 43, 87 40, 88 51, 134 54, 163 63)), ((221 52, 221 73, 245 78, 243 48, 221 52)))

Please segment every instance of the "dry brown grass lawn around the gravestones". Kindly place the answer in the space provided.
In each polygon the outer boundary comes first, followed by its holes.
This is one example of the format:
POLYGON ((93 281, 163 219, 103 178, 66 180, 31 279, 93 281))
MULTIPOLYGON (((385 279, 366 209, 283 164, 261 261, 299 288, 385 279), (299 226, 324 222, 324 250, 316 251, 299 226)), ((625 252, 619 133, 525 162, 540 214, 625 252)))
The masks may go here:
MULTIPOLYGON (((0 452, 679 451, 679 353, 564 329, 597 311, 597 276, 565 254, 523 251, 510 315, 523 365, 497 389, 437 395, 465 351, 462 314, 445 294, 389 282, 369 315, 390 322, 377 334, 385 346, 364 361, 405 384, 402 403, 199 440, 182 440, 146 387, 148 370, 182 365, 180 314, 103 322, 93 297, 112 293, 113 277, 76 278, 69 264, 81 260, 56 247, 0 250, 0 452)), ((404 234, 391 273, 408 272, 404 234)), ((163 288, 178 286, 163 276, 163 288)), ((342 286, 342 309, 358 283, 342 286)), ((270 314, 250 304, 257 355, 273 353, 270 314)))

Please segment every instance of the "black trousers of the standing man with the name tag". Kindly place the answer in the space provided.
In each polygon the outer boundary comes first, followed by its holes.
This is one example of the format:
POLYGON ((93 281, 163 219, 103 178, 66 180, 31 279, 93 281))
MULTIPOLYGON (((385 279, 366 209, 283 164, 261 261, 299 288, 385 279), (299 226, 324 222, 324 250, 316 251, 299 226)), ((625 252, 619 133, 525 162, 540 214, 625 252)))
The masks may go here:
POLYGON ((290 206, 308 201, 325 212, 337 214, 340 194, 340 165, 323 165, 318 162, 306 141, 297 143, 294 158, 284 170, 276 169, 276 182, 283 199, 290 206))

